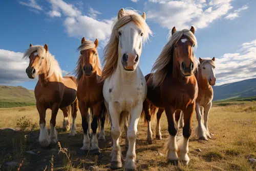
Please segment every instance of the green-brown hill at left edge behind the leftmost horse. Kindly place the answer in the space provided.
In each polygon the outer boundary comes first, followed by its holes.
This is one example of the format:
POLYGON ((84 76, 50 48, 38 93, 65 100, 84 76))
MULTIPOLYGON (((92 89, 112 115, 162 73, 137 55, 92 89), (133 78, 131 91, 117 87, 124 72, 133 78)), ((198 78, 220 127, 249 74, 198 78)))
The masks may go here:
POLYGON ((33 90, 22 86, 0 85, 0 108, 35 105, 33 90))

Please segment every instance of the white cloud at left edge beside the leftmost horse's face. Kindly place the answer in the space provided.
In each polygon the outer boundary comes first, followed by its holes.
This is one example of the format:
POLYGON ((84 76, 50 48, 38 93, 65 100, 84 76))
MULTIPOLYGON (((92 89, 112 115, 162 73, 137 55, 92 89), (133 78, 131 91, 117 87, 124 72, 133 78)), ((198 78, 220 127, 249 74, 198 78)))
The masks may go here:
POLYGON ((26 74, 29 62, 22 57, 23 53, 0 49, 0 84, 31 81, 26 74))

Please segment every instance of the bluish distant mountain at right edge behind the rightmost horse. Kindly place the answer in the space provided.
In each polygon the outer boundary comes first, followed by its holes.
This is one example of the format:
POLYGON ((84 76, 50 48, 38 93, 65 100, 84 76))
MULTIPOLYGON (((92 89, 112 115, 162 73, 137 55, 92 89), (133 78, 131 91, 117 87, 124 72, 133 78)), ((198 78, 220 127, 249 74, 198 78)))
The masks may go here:
POLYGON ((214 101, 256 96, 256 79, 213 86, 214 101))

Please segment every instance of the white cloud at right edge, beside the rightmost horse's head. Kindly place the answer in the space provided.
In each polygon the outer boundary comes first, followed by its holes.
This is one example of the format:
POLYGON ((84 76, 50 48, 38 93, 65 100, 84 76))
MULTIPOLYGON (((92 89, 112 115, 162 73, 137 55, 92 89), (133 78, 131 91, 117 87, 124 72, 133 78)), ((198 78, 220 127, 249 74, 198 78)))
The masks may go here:
POLYGON ((243 43, 238 52, 216 58, 217 85, 256 78, 256 39, 243 43))

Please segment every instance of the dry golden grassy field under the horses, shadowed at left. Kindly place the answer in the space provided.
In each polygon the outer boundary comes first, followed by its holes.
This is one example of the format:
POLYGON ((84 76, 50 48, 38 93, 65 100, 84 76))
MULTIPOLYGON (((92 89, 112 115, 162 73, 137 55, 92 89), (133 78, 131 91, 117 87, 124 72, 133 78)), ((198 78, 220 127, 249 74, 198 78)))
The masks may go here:
MULTIPOLYGON (((196 115, 193 116, 193 134, 189 141, 188 166, 170 165, 166 162, 164 143, 168 138, 166 117, 161 118, 162 140, 155 140, 152 145, 146 142, 147 128, 140 119, 138 139, 136 141, 138 170, 256 170, 256 164, 250 164, 249 158, 256 158, 256 102, 230 102, 214 105, 209 115, 209 130, 214 134, 209 141, 197 140, 194 130, 197 126, 196 115), (196 149, 200 149, 198 152, 196 149)), ((89 166, 99 166, 100 170, 109 170, 111 138, 110 125, 106 126, 106 142, 99 141, 100 155, 91 155, 79 149, 82 146, 81 116, 77 115, 77 135, 69 137, 69 132, 62 132, 63 115, 57 115, 58 138, 67 154, 60 152, 58 146, 40 148, 39 115, 34 106, 19 108, 2 108, 1 128, 22 128, 23 131, 0 130, 0 170, 17 170, 7 167, 6 162, 22 163, 20 170, 88 170, 89 166), (24 117, 25 118, 22 118, 24 117), (17 119, 20 119, 18 120, 17 119), (32 151, 35 154, 28 154, 32 151), (46 168, 46 169, 45 169, 46 168)), ((50 110, 47 111, 49 128, 50 110)), ((152 128, 155 128, 153 123, 152 128)), ((181 134, 179 130, 179 135, 181 134)), ((154 132, 154 131, 153 131, 154 132)), ((120 138, 123 157, 125 157, 124 135, 120 138)))

